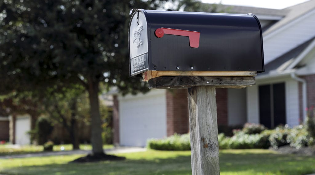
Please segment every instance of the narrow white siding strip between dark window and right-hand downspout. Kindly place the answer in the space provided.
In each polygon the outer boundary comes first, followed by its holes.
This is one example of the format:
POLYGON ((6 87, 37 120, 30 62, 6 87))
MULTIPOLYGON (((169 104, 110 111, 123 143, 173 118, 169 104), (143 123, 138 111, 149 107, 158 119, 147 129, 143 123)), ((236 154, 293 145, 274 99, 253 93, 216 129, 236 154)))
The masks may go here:
POLYGON ((285 108, 286 121, 290 127, 299 125, 299 86, 298 82, 288 80, 285 82, 285 108))

